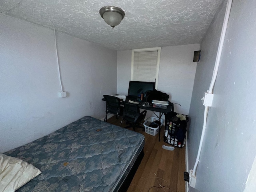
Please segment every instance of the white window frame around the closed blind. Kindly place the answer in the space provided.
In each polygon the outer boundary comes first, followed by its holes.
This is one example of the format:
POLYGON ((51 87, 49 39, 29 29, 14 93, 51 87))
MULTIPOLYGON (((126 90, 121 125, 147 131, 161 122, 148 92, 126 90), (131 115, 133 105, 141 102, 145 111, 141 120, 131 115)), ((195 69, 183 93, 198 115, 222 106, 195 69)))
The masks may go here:
POLYGON ((160 56, 161 56, 161 47, 154 47, 154 48, 144 48, 144 49, 133 49, 132 50, 132 69, 131 69, 131 80, 133 78, 133 68, 134 68, 134 52, 146 52, 146 51, 158 51, 157 55, 157 64, 156 64, 156 86, 158 87, 158 76, 159 76, 159 67, 160 67, 160 56))

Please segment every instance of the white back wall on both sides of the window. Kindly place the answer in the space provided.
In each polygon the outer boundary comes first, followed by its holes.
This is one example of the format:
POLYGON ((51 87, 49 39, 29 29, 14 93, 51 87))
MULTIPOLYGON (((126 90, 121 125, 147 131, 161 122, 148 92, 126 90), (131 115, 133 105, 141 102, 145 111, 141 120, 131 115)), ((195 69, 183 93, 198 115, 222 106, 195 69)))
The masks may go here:
MULTIPOLYGON (((158 90, 166 92, 174 104, 174 111, 188 114, 192 96, 197 62, 193 62, 194 51, 200 44, 168 46, 161 48, 158 90)), ((131 79, 132 51, 118 51, 118 94, 128 94, 131 79)), ((151 113, 150 113, 151 115, 151 113)))

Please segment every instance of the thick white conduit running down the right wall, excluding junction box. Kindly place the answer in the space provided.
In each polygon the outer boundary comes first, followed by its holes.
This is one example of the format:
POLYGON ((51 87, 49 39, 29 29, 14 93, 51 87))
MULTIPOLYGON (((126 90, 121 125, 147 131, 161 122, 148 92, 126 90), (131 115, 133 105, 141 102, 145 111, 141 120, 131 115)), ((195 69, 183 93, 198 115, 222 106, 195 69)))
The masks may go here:
MULTIPOLYGON (((224 39, 225 39, 225 36, 226 36, 226 30, 227 30, 227 27, 228 27, 228 19, 229 19, 229 16, 230 16, 231 5, 232 5, 232 0, 228 0, 227 6, 226 6, 226 13, 225 13, 225 16, 224 16, 224 22, 223 22, 223 25, 222 25, 222 31, 221 31, 221 35, 220 35, 220 42, 219 42, 219 46, 218 46, 217 56, 216 56, 216 60, 215 60, 214 71, 213 71, 213 74, 212 74, 212 81, 210 83, 209 90, 207 91, 210 94, 212 94, 213 86, 215 84, 217 73, 218 73, 218 68, 219 68, 219 65, 220 65, 220 57, 221 57, 221 54, 222 54, 222 48, 223 48, 224 39)), ((193 168, 193 171, 192 171, 193 176, 196 175, 196 168, 198 166, 199 158, 200 158, 200 154, 201 154, 201 150, 202 150, 202 144, 203 144, 203 140, 204 140, 204 133, 205 133, 205 130, 206 130, 208 109, 209 109, 209 107, 205 106, 205 108, 204 108, 203 130, 202 130, 202 134, 201 134, 201 139, 200 139, 200 144, 199 144, 199 148, 198 148, 198 154, 197 154, 197 157, 196 157, 196 162, 195 162, 195 165, 194 165, 194 168, 193 168)))

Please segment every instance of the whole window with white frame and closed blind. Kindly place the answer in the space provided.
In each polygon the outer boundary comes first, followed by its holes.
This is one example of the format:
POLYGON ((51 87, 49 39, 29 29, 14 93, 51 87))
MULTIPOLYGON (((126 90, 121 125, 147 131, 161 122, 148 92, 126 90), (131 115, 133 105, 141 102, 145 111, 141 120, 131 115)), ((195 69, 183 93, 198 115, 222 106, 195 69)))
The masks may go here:
POLYGON ((132 50, 131 80, 156 82, 157 88, 160 53, 160 47, 132 50))

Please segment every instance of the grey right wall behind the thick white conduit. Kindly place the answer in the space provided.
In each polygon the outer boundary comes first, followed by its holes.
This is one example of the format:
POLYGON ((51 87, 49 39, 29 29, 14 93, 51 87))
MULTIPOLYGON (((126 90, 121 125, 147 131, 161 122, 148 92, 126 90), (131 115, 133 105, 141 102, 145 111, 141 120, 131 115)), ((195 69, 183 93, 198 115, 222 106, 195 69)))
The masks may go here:
MULTIPOLYGON (((212 78, 226 2, 220 6, 201 44, 189 112, 189 169, 193 169, 198 152, 204 113, 200 99, 212 78)), ((255 6, 255 1, 233 1, 196 172, 196 187, 190 191, 253 191, 251 186, 251 190, 244 189, 246 184, 252 184, 252 180, 247 182, 249 172, 255 175, 255 168, 252 169, 256 156, 255 6)))

